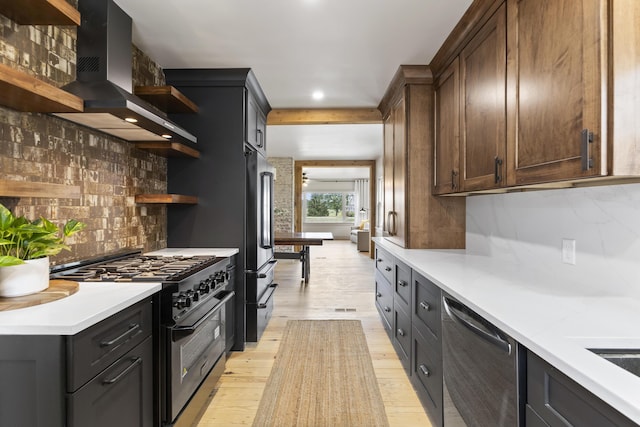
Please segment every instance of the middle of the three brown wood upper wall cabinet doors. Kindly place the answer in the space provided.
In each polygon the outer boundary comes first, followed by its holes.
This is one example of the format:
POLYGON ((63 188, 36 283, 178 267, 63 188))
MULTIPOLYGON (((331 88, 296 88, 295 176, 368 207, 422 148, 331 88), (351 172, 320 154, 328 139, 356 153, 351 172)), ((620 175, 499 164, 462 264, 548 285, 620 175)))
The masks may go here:
POLYGON ((506 6, 460 53, 460 169, 464 191, 506 184, 506 6))

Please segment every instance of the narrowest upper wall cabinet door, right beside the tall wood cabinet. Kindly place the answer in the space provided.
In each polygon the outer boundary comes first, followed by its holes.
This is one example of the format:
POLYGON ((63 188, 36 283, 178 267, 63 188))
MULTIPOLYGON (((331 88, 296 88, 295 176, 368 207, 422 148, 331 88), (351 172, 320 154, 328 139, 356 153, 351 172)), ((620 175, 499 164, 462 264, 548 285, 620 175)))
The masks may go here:
POLYGON ((460 190, 460 62, 456 58, 440 75, 435 88, 434 194, 460 190))

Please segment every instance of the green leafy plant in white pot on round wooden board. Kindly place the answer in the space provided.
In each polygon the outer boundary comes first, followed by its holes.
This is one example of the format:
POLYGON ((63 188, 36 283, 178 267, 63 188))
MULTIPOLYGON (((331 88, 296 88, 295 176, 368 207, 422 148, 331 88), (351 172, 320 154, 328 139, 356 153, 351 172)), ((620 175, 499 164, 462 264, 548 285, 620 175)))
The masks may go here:
POLYGON ((0 204, 0 296, 29 295, 49 287, 49 256, 70 250, 65 239, 85 226, 71 219, 60 230, 42 217, 16 217, 0 204))

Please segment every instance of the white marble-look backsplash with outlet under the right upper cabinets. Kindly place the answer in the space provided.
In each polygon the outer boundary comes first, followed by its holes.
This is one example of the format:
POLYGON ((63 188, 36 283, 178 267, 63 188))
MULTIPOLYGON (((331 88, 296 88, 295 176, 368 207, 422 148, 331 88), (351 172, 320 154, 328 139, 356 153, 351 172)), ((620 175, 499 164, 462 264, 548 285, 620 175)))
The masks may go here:
POLYGON ((640 295, 640 184, 467 197, 467 250, 640 295), (563 238, 575 265, 562 263, 563 238))

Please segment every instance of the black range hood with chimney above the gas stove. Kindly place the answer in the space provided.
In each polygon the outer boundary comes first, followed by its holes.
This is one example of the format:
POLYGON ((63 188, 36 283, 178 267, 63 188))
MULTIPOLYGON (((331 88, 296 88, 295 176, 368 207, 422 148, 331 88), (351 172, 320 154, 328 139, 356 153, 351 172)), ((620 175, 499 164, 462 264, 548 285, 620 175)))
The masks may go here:
POLYGON ((194 135, 133 95, 132 21, 113 0, 80 0, 76 81, 64 90, 84 100, 83 113, 58 117, 127 141, 175 141, 194 147, 194 135))

